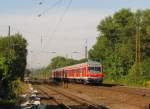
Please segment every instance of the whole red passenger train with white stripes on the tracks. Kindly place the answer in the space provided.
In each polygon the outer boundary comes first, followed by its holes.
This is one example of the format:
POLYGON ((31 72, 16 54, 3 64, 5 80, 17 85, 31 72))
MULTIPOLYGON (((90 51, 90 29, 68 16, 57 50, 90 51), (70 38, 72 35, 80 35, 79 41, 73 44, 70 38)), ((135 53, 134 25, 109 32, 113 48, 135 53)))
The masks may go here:
POLYGON ((103 82, 102 64, 96 61, 88 61, 81 64, 54 69, 50 78, 55 81, 68 81, 79 83, 100 84, 103 82))

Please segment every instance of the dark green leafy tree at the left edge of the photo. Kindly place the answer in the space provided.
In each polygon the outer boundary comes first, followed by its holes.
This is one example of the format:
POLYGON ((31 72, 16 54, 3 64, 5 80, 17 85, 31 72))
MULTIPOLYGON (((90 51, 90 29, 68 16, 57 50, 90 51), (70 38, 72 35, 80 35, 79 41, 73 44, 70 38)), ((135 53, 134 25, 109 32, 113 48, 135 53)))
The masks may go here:
POLYGON ((0 37, 0 97, 15 97, 16 80, 23 79, 26 68, 27 41, 20 34, 0 37))

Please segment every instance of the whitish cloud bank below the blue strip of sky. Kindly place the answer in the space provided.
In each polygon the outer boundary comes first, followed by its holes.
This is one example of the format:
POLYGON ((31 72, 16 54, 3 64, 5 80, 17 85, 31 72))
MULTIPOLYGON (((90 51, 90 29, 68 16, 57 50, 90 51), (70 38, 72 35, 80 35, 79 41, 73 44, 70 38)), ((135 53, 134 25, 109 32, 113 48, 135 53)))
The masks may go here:
POLYGON ((110 13, 98 11, 70 11, 61 23, 58 24, 60 13, 51 13, 41 16, 0 16, 0 34, 7 34, 7 25, 11 25, 12 34, 20 32, 28 40, 28 49, 32 53, 28 55, 28 66, 46 66, 50 59, 56 55, 71 56, 73 58, 84 57, 85 40, 88 40, 90 48, 97 37, 96 26, 110 13), (56 29, 56 32, 52 32, 56 29), (41 47, 41 35, 43 45, 41 47), (45 52, 42 52, 45 51, 45 52), (55 51, 56 54, 47 52, 55 51), (73 51, 80 51, 72 54, 73 51))

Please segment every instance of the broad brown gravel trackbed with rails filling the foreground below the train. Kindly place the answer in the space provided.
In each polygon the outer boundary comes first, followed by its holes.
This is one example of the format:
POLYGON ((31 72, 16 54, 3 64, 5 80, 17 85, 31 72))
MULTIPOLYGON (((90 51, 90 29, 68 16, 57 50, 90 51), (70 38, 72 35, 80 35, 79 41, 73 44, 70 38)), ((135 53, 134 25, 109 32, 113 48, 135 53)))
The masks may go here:
POLYGON ((128 107, 133 106, 139 109, 145 109, 150 102, 150 90, 148 88, 132 88, 120 85, 93 86, 74 83, 69 83, 67 89, 52 83, 49 85, 42 84, 40 87, 46 90, 47 93, 51 93, 52 96, 56 95, 55 97, 60 102, 64 101, 62 98, 68 99, 67 102, 69 104, 73 102, 71 105, 67 104, 66 101, 63 102, 71 109, 82 109, 82 106, 85 106, 86 109, 111 109, 117 104, 120 106, 127 105, 128 107), (91 99, 93 100, 92 102, 90 102, 91 99), (77 105, 76 108, 73 107, 75 103, 77 105), (107 108, 101 107, 98 104, 104 105, 107 108))

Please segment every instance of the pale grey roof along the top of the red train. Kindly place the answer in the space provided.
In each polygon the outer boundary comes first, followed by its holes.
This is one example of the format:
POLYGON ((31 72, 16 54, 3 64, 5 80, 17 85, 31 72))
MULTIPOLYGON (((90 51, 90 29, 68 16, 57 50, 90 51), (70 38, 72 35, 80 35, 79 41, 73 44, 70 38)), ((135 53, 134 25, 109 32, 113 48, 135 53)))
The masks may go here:
POLYGON ((66 67, 62 67, 62 68, 57 68, 57 69, 54 69, 53 71, 72 70, 72 69, 84 68, 86 66, 98 67, 98 66, 101 66, 101 63, 96 62, 96 61, 87 61, 85 63, 70 65, 70 66, 66 66, 66 67))

